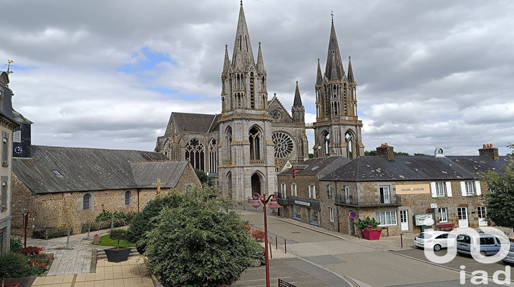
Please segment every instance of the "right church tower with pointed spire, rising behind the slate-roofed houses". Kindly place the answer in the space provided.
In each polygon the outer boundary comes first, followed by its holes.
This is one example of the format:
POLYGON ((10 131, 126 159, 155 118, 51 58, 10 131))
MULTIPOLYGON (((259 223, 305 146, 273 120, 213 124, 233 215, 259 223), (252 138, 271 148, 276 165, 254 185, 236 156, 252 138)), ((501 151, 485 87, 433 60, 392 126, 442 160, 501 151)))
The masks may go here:
POLYGON ((357 116, 357 84, 352 62, 348 57, 348 75, 345 75, 339 53, 334 18, 328 42, 325 74, 317 66, 316 122, 313 123, 315 157, 342 155, 356 159, 364 155, 360 128, 363 122, 357 116))

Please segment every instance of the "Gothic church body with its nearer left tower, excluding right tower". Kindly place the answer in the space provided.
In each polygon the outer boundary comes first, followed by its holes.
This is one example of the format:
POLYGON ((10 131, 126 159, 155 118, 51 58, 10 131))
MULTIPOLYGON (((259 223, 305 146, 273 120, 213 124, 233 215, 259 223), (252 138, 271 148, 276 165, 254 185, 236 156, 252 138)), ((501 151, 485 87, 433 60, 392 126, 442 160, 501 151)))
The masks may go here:
POLYGON ((296 85, 291 114, 267 92, 262 49, 257 61, 243 11, 239 10, 232 60, 225 46, 221 71, 221 113, 171 113, 156 152, 190 161, 219 178, 219 187, 234 200, 276 191, 276 172, 284 163, 308 158, 305 109, 296 85))

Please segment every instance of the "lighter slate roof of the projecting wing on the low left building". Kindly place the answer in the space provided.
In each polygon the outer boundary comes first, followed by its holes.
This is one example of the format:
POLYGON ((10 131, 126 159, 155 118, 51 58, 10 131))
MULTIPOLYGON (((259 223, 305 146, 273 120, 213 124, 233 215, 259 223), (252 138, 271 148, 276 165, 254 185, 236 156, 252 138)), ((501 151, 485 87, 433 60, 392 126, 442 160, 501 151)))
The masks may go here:
POLYGON ((130 166, 138 188, 156 187, 158 178, 162 188, 171 188, 177 186, 187 164, 187 161, 136 161, 130 166))

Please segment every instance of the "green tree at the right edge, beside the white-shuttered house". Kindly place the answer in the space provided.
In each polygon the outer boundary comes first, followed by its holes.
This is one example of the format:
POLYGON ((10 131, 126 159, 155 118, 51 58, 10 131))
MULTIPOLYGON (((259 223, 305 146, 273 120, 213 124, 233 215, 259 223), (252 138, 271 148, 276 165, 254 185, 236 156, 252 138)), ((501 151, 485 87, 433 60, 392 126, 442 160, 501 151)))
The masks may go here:
POLYGON ((482 195, 487 210, 487 218, 497 226, 514 230, 514 161, 509 163, 502 172, 481 173, 481 179, 487 182, 489 193, 482 195))

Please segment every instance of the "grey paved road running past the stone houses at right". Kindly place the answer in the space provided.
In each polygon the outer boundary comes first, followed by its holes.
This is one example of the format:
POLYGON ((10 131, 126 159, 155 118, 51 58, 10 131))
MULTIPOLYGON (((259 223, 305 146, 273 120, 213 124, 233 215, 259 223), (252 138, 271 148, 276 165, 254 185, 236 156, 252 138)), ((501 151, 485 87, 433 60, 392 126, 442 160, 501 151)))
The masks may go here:
MULTIPOLYGON (((254 227, 264 228, 262 213, 245 212, 243 217, 254 227)), ((336 238, 284 222, 278 217, 268 217, 268 232, 271 238, 277 236, 279 249, 284 249, 285 239, 287 255, 293 256, 293 258, 275 257, 270 260, 272 286, 277 286, 279 277, 298 287, 357 286, 354 283, 358 286, 375 287, 463 286, 459 282, 461 273, 458 272, 462 264, 465 264, 466 271, 486 270, 482 268, 485 264, 463 256, 457 256, 454 262, 448 263, 448 266, 429 264, 424 262, 426 258, 421 249, 401 251, 377 249, 359 241, 336 238)), ((273 251, 276 250, 274 239, 272 242, 273 255, 273 251)), ((488 265, 492 266, 492 264, 488 265)), ((495 265, 495 267, 489 267, 496 268, 495 270, 499 267, 505 268, 502 263, 495 265)), ((493 271, 493 269, 490 270, 493 271)), ((470 282, 470 276, 466 275, 465 285, 472 285, 470 282)), ((488 284, 488 286, 495 285, 497 284, 493 282, 488 284)), ((265 268, 250 269, 233 286, 265 286, 265 268)))

